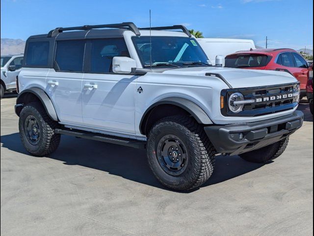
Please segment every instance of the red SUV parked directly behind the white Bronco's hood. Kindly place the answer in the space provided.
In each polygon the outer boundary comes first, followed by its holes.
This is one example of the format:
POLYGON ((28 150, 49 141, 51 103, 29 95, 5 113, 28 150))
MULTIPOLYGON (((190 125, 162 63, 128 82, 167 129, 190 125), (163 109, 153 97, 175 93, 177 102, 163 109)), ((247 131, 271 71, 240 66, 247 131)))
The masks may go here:
POLYGON ((226 57, 225 67, 286 71, 301 83, 301 98, 306 96, 310 65, 293 49, 239 51, 226 57))

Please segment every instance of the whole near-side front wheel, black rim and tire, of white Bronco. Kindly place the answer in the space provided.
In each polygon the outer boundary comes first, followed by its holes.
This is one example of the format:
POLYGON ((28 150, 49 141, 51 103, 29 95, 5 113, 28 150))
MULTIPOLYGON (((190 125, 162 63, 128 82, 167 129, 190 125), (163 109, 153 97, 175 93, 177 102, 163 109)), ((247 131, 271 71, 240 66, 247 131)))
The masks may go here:
POLYGON ((174 190, 190 190, 205 183, 215 164, 215 149, 193 118, 159 120, 148 138, 147 157, 155 177, 174 190))

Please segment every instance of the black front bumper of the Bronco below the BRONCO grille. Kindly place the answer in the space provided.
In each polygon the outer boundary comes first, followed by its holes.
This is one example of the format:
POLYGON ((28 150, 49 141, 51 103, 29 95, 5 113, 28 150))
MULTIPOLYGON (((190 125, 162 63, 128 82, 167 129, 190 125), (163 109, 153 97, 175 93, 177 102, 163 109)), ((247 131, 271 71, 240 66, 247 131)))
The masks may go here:
POLYGON ((304 114, 291 115, 252 123, 206 126, 205 132, 218 153, 238 155, 276 143, 303 124, 304 114))

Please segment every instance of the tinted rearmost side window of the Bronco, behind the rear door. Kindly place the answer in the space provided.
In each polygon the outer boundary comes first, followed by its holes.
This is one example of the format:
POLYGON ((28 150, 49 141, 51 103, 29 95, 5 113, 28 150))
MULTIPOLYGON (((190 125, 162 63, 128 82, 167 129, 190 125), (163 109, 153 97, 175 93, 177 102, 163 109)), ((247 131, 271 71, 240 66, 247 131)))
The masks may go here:
POLYGON ((49 42, 29 42, 26 51, 26 65, 48 65, 49 42))

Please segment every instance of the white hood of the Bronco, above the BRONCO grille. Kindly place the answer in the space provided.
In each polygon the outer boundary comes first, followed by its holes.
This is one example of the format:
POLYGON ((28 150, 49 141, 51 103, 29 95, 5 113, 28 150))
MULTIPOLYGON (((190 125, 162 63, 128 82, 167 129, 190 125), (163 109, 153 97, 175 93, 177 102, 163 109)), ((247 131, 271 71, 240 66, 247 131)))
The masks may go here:
POLYGON ((296 83, 287 72, 273 70, 246 70, 224 67, 188 67, 166 70, 163 74, 205 76, 206 73, 221 75, 232 88, 261 87, 296 83))

